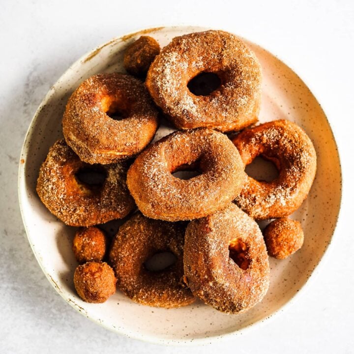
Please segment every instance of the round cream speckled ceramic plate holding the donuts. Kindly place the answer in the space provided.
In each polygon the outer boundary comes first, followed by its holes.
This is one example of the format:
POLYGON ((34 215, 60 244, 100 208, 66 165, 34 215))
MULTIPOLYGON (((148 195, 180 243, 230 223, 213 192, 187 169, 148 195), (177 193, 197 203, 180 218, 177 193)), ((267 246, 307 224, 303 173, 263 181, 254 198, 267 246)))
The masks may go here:
MULTIPOLYGON (((294 213, 304 229, 303 247, 287 260, 270 259, 269 291, 260 304, 242 315, 222 314, 200 301, 180 309, 161 309, 138 305, 120 292, 99 305, 85 303, 76 295, 72 279, 77 263, 71 251, 75 229, 57 220, 35 192, 39 166, 49 147, 62 136, 61 118, 66 101, 89 76, 123 71, 124 50, 142 33, 151 35, 164 46, 177 35, 198 30, 201 29, 143 30, 115 38, 76 61, 39 106, 29 126, 19 169, 19 199, 29 243, 57 292, 94 322, 117 333, 160 344, 208 343, 244 333, 289 304, 318 269, 333 235, 341 199, 338 151, 320 104, 287 65, 265 49, 247 42, 260 60, 264 74, 260 121, 279 118, 295 121, 305 129, 317 151, 318 170, 314 184, 307 200, 294 213)), ((170 130, 162 126, 155 139, 170 130)))

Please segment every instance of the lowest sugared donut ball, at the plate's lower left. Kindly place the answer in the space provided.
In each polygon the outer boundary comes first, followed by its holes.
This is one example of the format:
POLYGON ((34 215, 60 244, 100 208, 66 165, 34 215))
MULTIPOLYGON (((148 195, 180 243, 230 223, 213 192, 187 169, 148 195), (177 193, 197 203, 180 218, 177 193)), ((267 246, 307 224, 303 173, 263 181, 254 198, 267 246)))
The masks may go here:
POLYGON ((107 263, 88 262, 75 269, 75 289, 86 302, 105 302, 116 292, 116 282, 114 271, 107 263))

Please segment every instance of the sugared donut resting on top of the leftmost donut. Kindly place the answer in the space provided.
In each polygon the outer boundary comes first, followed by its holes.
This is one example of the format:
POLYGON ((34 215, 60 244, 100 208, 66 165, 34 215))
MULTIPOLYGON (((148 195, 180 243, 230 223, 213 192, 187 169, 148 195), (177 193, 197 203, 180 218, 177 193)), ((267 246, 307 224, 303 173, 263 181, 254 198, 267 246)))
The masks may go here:
POLYGON ((62 120, 67 144, 89 164, 138 154, 152 140, 157 110, 144 84, 120 73, 98 74, 71 95, 62 120), (110 117, 120 115, 119 120, 110 117))

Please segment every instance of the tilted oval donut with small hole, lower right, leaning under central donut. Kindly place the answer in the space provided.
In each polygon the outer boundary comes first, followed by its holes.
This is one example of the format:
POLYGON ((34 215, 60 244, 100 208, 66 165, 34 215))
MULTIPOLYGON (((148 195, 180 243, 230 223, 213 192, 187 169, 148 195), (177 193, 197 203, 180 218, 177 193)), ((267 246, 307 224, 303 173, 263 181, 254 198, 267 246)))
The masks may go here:
POLYGON ((221 312, 242 313, 266 295, 269 263, 257 223, 231 203, 191 221, 184 241, 185 281, 221 312))

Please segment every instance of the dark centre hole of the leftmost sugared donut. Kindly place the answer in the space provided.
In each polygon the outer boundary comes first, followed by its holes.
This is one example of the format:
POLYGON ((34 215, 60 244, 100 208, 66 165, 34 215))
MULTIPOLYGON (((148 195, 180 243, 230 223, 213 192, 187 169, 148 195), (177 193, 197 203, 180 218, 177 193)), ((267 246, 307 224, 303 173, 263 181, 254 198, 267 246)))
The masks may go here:
POLYGON ((75 173, 76 180, 89 190, 98 190, 107 178, 107 171, 100 165, 85 164, 75 173))

